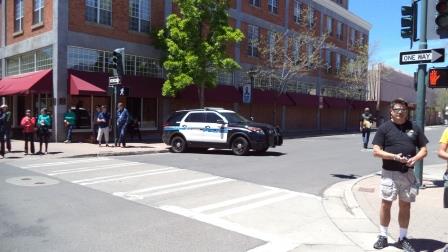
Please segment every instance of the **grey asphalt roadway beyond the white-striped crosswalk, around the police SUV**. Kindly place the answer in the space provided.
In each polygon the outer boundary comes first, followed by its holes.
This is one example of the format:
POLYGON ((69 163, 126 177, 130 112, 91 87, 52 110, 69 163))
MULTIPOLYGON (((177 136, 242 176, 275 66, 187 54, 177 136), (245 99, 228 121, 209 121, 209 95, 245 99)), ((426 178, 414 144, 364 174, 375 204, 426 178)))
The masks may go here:
MULTIPOLYGON (((437 158, 444 127, 427 127, 430 143, 425 164, 443 163, 437 158)), ((375 133, 372 133, 370 143, 375 133)), ((371 145, 369 145, 371 148, 371 145)), ((129 156, 126 160, 181 167, 297 192, 321 195, 325 188, 381 169, 372 149, 363 149, 360 134, 286 139, 283 146, 263 155, 238 157, 227 150, 202 153, 166 153, 129 156)))

